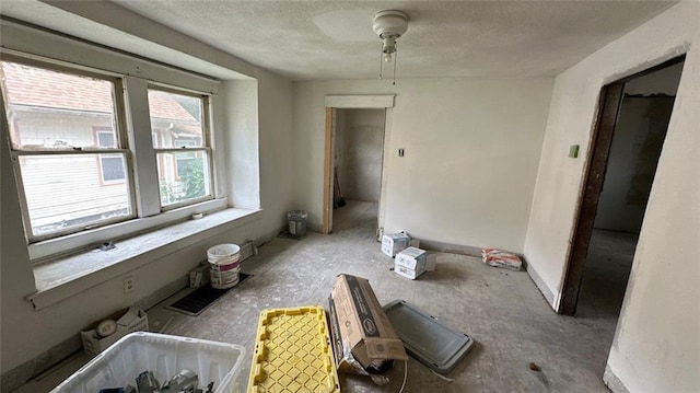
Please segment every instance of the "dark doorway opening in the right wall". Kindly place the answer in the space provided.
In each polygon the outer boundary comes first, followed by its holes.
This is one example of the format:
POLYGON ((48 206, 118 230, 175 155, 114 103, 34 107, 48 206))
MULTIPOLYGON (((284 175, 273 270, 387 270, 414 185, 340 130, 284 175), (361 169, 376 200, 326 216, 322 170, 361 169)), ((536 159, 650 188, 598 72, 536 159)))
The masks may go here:
POLYGON ((559 312, 610 321, 622 307, 685 56, 602 89, 559 312))

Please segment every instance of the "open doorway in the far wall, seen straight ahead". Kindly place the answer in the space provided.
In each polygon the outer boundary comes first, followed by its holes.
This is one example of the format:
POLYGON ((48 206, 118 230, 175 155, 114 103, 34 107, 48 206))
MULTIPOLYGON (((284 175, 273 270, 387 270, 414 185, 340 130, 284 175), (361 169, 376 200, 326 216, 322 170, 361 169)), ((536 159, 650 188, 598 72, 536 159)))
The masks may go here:
POLYGON ((382 188, 386 109, 336 108, 332 114, 332 231, 372 226, 382 188))

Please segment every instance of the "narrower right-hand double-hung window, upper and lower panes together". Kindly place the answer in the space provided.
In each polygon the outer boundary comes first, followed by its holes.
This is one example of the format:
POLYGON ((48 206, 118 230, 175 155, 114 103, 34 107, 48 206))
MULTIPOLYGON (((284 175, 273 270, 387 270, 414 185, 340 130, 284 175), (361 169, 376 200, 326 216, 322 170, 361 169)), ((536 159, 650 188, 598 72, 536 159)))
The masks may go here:
POLYGON ((149 89, 149 114, 164 209, 212 198, 206 96, 149 89))

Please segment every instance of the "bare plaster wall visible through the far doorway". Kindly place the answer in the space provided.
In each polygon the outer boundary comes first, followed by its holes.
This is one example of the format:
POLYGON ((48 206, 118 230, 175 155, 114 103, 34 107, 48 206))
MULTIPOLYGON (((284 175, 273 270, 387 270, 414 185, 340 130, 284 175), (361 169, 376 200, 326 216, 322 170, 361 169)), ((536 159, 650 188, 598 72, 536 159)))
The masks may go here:
MULTIPOLYGON (((338 109, 345 116, 340 189, 348 200, 378 201, 384 154, 384 109, 338 109)), ((336 138, 338 139, 338 138, 336 138)))

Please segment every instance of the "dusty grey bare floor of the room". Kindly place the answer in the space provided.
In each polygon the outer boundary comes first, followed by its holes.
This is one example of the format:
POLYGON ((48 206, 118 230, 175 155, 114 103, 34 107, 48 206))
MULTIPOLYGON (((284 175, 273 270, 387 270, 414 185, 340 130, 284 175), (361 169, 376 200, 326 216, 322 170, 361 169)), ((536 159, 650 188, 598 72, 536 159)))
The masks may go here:
MULTIPOLYGON (((340 226, 330 235, 308 233, 301 241, 276 239, 261 246, 259 255, 243 263, 243 270, 254 277, 198 317, 163 309, 185 291, 164 301, 148 311, 152 328, 160 330, 172 317, 168 334, 243 345, 245 389, 258 313, 266 308, 325 305, 336 275, 348 273, 369 278, 382 304, 404 299, 476 342, 445 375, 453 382, 411 358, 405 392, 607 391, 602 375, 615 331, 610 316, 558 315, 527 273, 486 266, 476 257, 439 254, 435 271, 416 281, 401 278, 389 269, 393 259, 382 254, 375 240, 376 206, 359 210, 353 226, 340 226), (530 370, 530 362, 541 371, 530 370)), ((48 391, 86 360, 75 356, 18 392, 48 391)), ((353 375, 340 375, 340 382, 346 392, 397 392, 404 365, 386 375, 390 382, 384 386, 353 375)))

